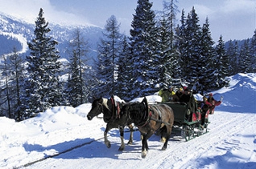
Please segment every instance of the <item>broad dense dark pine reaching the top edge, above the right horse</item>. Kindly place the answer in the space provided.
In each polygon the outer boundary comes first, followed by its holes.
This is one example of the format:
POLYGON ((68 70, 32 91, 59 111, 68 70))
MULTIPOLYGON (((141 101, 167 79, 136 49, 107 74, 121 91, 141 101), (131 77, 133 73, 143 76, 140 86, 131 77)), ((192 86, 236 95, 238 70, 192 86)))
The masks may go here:
POLYGON ((155 26, 155 13, 149 0, 138 0, 130 30, 130 70, 132 78, 128 94, 131 99, 155 92, 159 78, 158 37, 155 26))

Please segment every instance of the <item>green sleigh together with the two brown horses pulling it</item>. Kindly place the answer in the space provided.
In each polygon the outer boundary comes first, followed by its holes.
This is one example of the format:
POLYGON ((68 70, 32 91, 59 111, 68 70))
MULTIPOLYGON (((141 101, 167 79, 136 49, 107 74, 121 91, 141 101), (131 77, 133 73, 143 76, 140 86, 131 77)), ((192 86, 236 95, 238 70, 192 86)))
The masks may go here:
MULTIPOLYGON (((195 102, 191 97, 189 100, 195 102)), ((171 131, 180 131, 181 136, 186 139, 192 139, 207 132, 209 124, 209 111, 205 113, 204 128, 201 124, 201 110, 197 108, 194 102, 188 103, 148 103, 144 98, 138 103, 117 103, 114 96, 110 99, 95 99, 92 108, 87 115, 91 120, 93 117, 103 113, 103 119, 107 123, 104 138, 107 147, 110 147, 107 133, 112 128, 119 128, 121 136, 121 147, 119 151, 124 150, 123 141, 124 127, 130 128, 130 139, 128 144, 133 142, 132 123, 138 127, 142 135, 142 158, 147 155, 147 139, 154 133, 159 133, 163 141, 162 150, 167 148, 167 142, 171 137, 171 131)), ((175 132, 176 133, 176 132, 175 132)))

